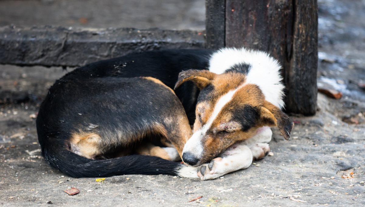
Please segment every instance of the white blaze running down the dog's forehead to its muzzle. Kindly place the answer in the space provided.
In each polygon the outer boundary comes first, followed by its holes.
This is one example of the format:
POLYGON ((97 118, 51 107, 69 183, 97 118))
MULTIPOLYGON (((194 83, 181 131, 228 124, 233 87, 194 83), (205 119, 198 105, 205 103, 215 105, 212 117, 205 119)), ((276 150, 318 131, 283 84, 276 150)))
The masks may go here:
POLYGON ((208 130, 211 128, 212 123, 214 122, 215 118, 218 116, 219 112, 222 111, 222 108, 232 100, 234 94, 241 89, 244 85, 242 84, 234 90, 228 91, 228 93, 224 94, 220 97, 215 104, 214 110, 212 115, 210 116, 207 123, 204 126, 200 127, 200 129, 196 130, 191 138, 185 143, 183 153, 190 152, 196 158, 200 160, 201 155, 203 154, 203 144, 201 143, 205 134, 207 134, 208 130))

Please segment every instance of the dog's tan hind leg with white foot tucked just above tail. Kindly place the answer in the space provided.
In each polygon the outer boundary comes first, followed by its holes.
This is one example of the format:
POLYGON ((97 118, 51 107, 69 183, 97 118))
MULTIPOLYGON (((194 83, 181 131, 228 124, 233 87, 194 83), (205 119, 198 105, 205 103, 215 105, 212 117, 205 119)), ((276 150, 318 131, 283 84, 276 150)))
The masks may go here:
POLYGON ((157 156, 165 160, 178 161, 180 155, 174 147, 159 147, 154 146, 152 143, 146 143, 136 149, 137 154, 157 156))

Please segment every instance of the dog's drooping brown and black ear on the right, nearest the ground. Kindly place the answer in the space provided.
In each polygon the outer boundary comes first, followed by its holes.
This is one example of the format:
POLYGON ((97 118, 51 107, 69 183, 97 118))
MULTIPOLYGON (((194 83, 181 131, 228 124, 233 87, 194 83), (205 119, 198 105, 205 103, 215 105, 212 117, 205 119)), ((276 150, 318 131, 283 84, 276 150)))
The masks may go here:
POLYGON ((268 101, 265 101, 263 106, 259 107, 258 111, 262 124, 266 126, 277 126, 284 138, 286 140, 289 139, 294 123, 287 114, 268 101))

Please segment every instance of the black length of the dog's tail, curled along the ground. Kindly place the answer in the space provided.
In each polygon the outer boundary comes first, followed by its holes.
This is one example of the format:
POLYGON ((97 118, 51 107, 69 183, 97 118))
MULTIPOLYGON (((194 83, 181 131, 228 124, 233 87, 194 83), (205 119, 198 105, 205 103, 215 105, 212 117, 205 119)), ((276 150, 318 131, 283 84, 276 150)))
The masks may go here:
POLYGON ((110 177, 125 174, 177 175, 177 170, 183 166, 178 162, 145 155, 91 160, 60 148, 42 146, 42 155, 51 167, 76 178, 110 177))

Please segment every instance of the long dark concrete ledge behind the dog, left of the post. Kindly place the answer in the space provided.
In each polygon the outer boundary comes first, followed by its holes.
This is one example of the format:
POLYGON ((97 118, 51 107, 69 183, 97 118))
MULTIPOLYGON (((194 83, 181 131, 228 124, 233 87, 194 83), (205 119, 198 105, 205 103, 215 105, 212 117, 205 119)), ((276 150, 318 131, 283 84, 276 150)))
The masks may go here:
POLYGON ((205 47, 205 31, 0 27, 0 64, 82 66, 128 53, 205 47))

